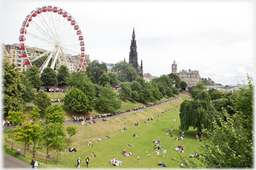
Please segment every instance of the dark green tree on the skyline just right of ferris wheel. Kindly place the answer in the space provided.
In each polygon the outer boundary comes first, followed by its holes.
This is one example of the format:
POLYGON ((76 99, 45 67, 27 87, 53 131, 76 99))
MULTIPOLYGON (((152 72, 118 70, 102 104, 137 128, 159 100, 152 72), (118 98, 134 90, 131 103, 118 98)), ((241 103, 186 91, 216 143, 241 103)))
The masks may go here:
POLYGON ((98 62, 98 60, 92 61, 87 66, 87 76, 88 77, 94 77, 95 83, 98 84, 100 81, 100 76, 103 73, 107 73, 107 65, 103 62, 101 64, 98 62))

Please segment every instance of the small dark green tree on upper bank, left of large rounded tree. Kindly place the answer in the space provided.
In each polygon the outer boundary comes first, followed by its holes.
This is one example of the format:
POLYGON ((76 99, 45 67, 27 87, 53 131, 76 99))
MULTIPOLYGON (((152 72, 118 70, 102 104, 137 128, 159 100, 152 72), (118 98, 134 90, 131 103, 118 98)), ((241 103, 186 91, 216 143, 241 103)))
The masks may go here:
POLYGON ((50 97, 47 95, 46 91, 39 90, 33 103, 41 110, 40 116, 44 117, 46 108, 52 106, 50 102, 50 97))

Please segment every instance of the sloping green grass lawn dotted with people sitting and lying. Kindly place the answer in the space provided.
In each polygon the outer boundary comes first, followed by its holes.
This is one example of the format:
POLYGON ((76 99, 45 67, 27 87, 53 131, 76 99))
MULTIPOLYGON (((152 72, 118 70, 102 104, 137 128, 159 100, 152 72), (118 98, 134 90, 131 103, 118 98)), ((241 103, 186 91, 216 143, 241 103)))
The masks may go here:
MULTIPOLYGON (((184 100, 187 99, 186 96, 183 97, 184 100)), ((194 129, 189 129, 184 131, 185 137, 184 140, 174 140, 178 136, 180 125, 180 117, 178 116, 178 108, 175 107, 178 104, 183 102, 183 99, 173 101, 173 104, 168 102, 166 104, 160 104, 157 107, 151 109, 140 110, 140 113, 133 113, 126 116, 116 117, 110 119, 107 122, 99 121, 94 125, 75 125, 79 130, 75 136, 71 137, 69 147, 76 148, 77 152, 68 152, 65 150, 59 155, 59 162, 56 165, 55 161, 48 160, 47 165, 43 164, 40 168, 76 168, 76 160, 78 157, 81 157, 82 164, 81 168, 86 168, 85 158, 87 156, 90 159, 89 168, 114 168, 114 166, 108 165, 110 159, 113 156, 116 156, 116 160, 122 161, 122 165, 119 168, 162 168, 158 166, 159 161, 164 161, 169 168, 180 168, 176 162, 172 161, 168 157, 174 157, 178 159, 178 155, 183 155, 188 157, 191 153, 194 153, 199 146, 198 141, 196 140, 196 132, 194 129), (168 112, 169 108, 172 109, 172 113, 168 112), (162 111, 167 110, 165 113, 162 111), (158 117, 158 114, 162 115, 158 117), (143 123, 148 117, 153 116, 153 120, 149 120, 148 123, 143 123), (174 122, 174 119, 178 119, 178 122, 174 122), (157 121, 158 120, 158 121, 157 121), (139 121, 139 126, 135 126, 134 123, 139 121), (124 123, 126 122, 126 125, 124 123), (127 130, 120 132, 120 129, 123 129, 126 126, 127 130), (172 134, 173 137, 165 135, 168 129, 171 129, 171 126, 174 126, 174 131, 172 134), (139 133, 140 137, 133 137, 133 133, 137 135, 139 133), (105 135, 110 136, 110 139, 105 138, 105 135), (101 136, 103 140, 99 142, 97 139, 101 136), (165 158, 161 155, 155 155, 155 150, 153 146, 153 140, 161 140, 161 145, 164 149, 167 149, 167 156, 165 158), (92 140, 94 146, 87 146, 89 140, 92 140), (134 145, 135 147, 126 146, 134 145), (176 148, 178 145, 185 146, 185 152, 180 153, 173 151, 172 149, 176 148), (132 156, 125 157, 123 156, 123 149, 126 149, 127 152, 132 152, 132 156), (148 151, 151 156, 146 156, 146 151, 148 151), (91 153, 94 152, 97 155, 97 158, 91 158, 91 153), (136 155, 140 156, 140 163, 137 163, 136 155)), ((64 128, 66 128, 64 126, 64 128)), ((181 131, 182 132, 182 131, 181 131)), ((67 134, 68 135, 68 134, 67 134)), ((66 136, 66 143, 68 143, 69 136, 66 136)), ((3 141, 4 142, 4 141, 3 141)), ((21 149, 21 154, 24 153, 24 144, 20 145, 14 142, 15 146, 21 149)), ((11 140, 5 142, 5 146, 10 148, 11 140), (8 145, 6 145, 8 144, 8 145)), ((17 149, 17 148, 15 148, 17 149)), ((68 148, 66 148, 68 149, 68 148)), ((46 157, 46 149, 37 152, 42 156, 36 156, 36 160, 39 163, 44 163, 46 157)), ((57 157, 57 154, 53 151, 49 152, 51 158, 57 157)), ((25 162, 29 162, 32 159, 31 153, 27 154, 27 158, 23 158, 25 162)), ((197 158, 191 158, 195 162, 199 162, 197 158)), ((116 168, 116 167, 115 167, 116 168)))

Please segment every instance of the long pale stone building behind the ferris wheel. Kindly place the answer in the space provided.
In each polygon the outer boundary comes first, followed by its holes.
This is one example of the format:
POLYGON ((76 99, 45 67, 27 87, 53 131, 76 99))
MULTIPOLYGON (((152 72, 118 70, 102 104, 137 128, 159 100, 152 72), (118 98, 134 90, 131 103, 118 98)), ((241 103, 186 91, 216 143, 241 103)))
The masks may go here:
MULTIPOLYGON (((18 47, 20 44, 4 44, 2 43, 2 57, 4 59, 7 60, 8 64, 17 64, 17 68, 18 70, 20 70, 20 72, 22 71, 27 71, 27 65, 23 64, 23 60, 25 57, 21 57, 21 51, 18 47)), ((41 48, 30 48, 30 47, 26 47, 27 48, 27 55, 29 60, 32 60, 35 57, 39 57, 41 54, 46 53, 47 50, 43 50, 41 48)), ((59 53, 60 56, 62 55, 62 53, 59 53)), ((47 55, 47 54, 46 54, 47 55)), ((80 59, 81 56, 80 55, 73 55, 70 56, 70 58, 73 59, 69 59, 68 54, 65 54, 65 56, 67 56, 68 59, 68 66, 71 70, 71 72, 75 71, 76 68, 78 68, 78 64, 80 63, 80 59), (78 61, 78 62, 74 62, 74 61, 78 61)), ((63 64, 65 64, 63 57, 60 57, 60 62, 63 64)), ((88 66, 89 63, 91 63, 91 60, 89 60, 89 55, 85 55, 84 57, 84 67, 82 68, 82 71, 86 71, 86 67, 88 66)), ((33 63, 32 63, 33 64, 33 63)), ((66 64, 65 64, 66 65, 66 64)), ((58 62, 56 62, 56 68, 58 69, 60 67, 60 64, 58 62)))

